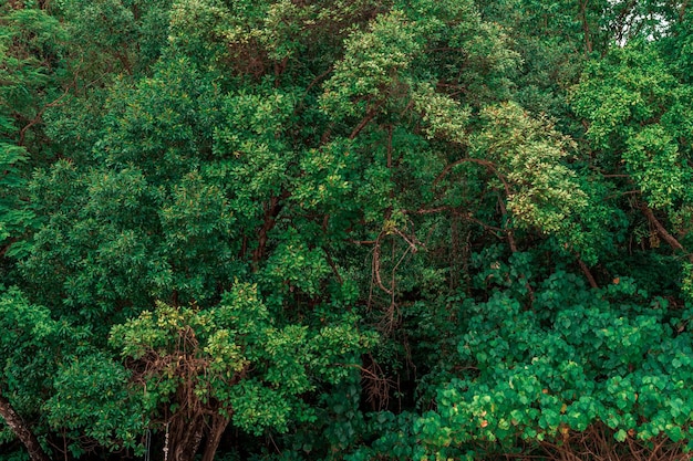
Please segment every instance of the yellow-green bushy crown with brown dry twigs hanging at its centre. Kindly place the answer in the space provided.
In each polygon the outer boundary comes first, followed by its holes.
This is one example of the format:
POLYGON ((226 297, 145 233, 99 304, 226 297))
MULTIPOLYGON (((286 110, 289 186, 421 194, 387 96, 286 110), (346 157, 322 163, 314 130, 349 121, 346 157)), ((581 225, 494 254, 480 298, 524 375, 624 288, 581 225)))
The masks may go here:
POLYGON ((370 340, 349 316, 320 329, 276 326, 257 289, 238 284, 209 310, 159 303, 114 326, 110 343, 141 364, 131 398, 142 398, 145 415, 201 405, 259 434, 286 431, 291 420, 314 421, 301 396, 317 380, 337 384, 350 376, 370 340))

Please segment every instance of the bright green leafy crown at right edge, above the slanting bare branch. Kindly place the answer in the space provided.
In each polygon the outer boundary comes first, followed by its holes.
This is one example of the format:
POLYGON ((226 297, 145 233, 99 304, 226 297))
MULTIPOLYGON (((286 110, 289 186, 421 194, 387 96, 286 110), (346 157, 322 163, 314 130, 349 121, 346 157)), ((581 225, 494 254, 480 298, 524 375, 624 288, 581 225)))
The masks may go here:
POLYGON ((690 135, 690 98, 658 50, 634 43, 588 67, 575 108, 590 119, 587 135, 603 150, 598 165, 614 171, 623 164, 652 207, 672 209, 690 200, 682 187, 690 176, 682 156, 690 149, 678 143, 690 135))

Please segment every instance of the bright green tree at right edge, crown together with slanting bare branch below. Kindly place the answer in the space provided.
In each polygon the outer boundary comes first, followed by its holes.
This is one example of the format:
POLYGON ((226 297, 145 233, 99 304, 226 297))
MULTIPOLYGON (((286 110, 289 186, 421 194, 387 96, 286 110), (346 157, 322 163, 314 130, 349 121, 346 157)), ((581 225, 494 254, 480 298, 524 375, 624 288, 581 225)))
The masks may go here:
MULTIPOLYGON (((691 149, 684 139, 691 134, 692 93, 679 76, 675 60, 663 53, 672 40, 633 41, 611 49, 603 60, 587 66, 571 99, 588 127, 586 138, 593 149, 590 167, 602 178, 623 178, 611 186, 610 197, 631 195, 628 208, 642 211, 647 219, 638 227, 639 220, 630 218, 638 239, 647 239, 653 249, 662 241, 674 251, 687 252, 684 222, 691 197, 683 185, 691 176, 691 149)), ((673 275, 676 283, 684 276, 673 275)))

